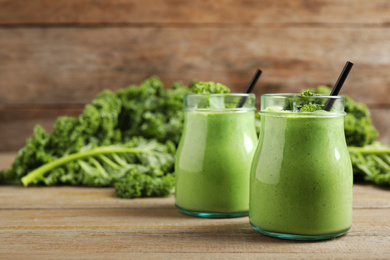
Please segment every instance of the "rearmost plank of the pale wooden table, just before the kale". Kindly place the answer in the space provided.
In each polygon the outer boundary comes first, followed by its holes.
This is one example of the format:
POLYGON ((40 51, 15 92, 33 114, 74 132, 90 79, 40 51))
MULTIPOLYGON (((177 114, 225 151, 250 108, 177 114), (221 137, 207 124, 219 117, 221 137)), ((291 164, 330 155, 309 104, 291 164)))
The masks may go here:
MULTIPOLYGON (((4 165, 7 154, 0 153, 4 165), (5 159, 4 159, 5 158, 5 159)), ((1 167, 0 163, 0 167, 1 167)), ((354 209, 390 209, 390 190, 370 184, 355 184, 354 209)), ((0 210, 27 209, 172 209, 173 196, 169 198, 119 199, 113 188, 89 187, 0 187, 0 210), (41 198, 45 199, 42 200, 41 198)), ((183 215, 184 216, 184 215, 183 215)))

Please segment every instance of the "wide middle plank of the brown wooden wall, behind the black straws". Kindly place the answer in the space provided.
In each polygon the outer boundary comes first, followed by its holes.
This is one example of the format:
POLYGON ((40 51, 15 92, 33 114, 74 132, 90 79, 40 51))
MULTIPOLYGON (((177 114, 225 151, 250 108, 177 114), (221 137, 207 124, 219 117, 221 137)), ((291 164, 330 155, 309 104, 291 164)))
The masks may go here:
POLYGON ((152 75, 244 91, 257 67, 257 94, 298 92, 333 85, 352 60, 343 93, 390 106, 389 41, 383 28, 0 29, 0 104, 86 103, 152 75))

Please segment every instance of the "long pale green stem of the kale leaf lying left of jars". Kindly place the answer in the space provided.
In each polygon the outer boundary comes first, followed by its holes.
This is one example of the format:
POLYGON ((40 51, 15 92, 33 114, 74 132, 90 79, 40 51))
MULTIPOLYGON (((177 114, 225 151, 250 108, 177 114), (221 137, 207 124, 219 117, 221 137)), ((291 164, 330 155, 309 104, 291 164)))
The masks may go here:
POLYGON ((57 160, 54 160, 52 162, 49 162, 47 164, 44 164, 26 176, 22 178, 22 183, 24 186, 28 186, 33 180, 43 176, 45 173, 48 171, 64 165, 68 162, 74 161, 74 160, 79 160, 79 159, 84 159, 87 157, 93 157, 96 155, 100 154, 110 154, 110 153, 148 153, 152 154, 153 152, 143 150, 143 149, 137 149, 137 148, 127 148, 127 147, 118 147, 118 146, 106 146, 106 147, 98 147, 89 151, 84 151, 84 152, 78 152, 70 155, 66 155, 64 157, 61 157, 57 160))

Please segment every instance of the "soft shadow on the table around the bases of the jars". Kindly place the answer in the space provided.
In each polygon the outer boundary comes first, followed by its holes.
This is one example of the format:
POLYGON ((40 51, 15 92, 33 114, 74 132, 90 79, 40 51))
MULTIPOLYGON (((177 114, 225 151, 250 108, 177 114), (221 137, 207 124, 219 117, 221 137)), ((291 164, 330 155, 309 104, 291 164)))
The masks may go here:
POLYGON ((248 217, 216 219, 193 217, 179 212, 174 205, 122 208, 115 209, 111 213, 104 211, 104 214, 104 217, 110 217, 115 221, 121 219, 120 221, 137 223, 131 227, 124 226, 125 230, 121 234, 129 237, 140 236, 145 241, 157 238, 161 245, 175 245, 180 248, 184 246, 188 247, 188 250, 193 250, 189 245, 201 245, 202 247, 218 245, 222 247, 220 248, 222 251, 229 251, 237 248, 240 250, 245 248, 261 250, 261 248, 266 249, 267 246, 271 245, 289 248, 291 245, 303 246, 303 244, 308 243, 330 241, 311 242, 273 238, 255 231, 250 225, 248 217), (164 239, 160 240, 161 238, 164 239), (243 245, 246 246, 242 248, 243 245))

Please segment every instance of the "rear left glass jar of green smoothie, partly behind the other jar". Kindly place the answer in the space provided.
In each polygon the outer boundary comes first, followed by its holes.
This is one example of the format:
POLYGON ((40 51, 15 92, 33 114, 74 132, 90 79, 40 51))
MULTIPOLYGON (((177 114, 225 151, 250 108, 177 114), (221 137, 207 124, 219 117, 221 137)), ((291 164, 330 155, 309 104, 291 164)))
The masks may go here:
POLYGON ((184 111, 175 162, 176 207, 198 217, 247 216, 257 144, 255 96, 190 94, 184 111))

